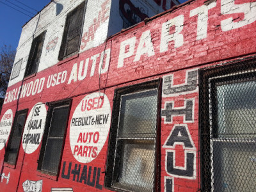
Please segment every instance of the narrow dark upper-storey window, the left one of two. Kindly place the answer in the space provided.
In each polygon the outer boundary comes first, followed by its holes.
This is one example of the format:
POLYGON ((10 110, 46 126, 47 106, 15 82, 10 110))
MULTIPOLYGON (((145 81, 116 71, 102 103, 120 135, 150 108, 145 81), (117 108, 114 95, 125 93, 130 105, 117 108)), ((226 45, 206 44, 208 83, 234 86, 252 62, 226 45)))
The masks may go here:
POLYGON ((25 76, 29 76, 31 74, 35 74, 38 70, 38 65, 40 62, 40 57, 42 54, 42 49, 44 45, 44 37, 45 37, 46 31, 41 33, 40 35, 36 36, 36 38, 33 39, 31 49, 29 52, 28 57, 28 64, 26 67, 25 76))

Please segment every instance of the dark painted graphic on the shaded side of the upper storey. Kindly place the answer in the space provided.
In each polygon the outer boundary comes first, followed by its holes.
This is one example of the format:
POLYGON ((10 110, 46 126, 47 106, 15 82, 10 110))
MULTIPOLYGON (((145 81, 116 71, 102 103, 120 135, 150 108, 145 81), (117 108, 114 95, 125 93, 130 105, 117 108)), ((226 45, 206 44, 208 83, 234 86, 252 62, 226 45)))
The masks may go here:
POLYGON ((146 19, 148 15, 145 13, 143 8, 139 8, 134 5, 131 0, 120 0, 119 1, 120 16, 124 20, 126 27, 133 26, 138 22, 146 19))

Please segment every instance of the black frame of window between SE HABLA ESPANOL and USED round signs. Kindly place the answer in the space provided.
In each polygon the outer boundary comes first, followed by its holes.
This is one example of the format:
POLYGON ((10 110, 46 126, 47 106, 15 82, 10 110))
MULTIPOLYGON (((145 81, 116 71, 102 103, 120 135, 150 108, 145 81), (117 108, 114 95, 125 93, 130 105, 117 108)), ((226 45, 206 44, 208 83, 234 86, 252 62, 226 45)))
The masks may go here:
POLYGON ((46 118, 46 123, 45 123, 44 134, 43 134, 43 138, 42 138, 42 145, 41 145, 40 153, 39 153, 39 156, 37 159, 37 163, 38 163, 37 170, 38 170, 38 172, 47 173, 49 175, 54 175, 54 176, 58 177, 60 174, 61 159, 63 156, 63 149, 65 146, 65 139, 66 139, 66 135, 67 135, 67 127, 68 127, 68 121, 69 121, 69 116, 70 116, 70 109, 72 106, 72 99, 50 102, 50 103, 47 103, 47 106, 49 108, 47 111, 47 118, 46 118), (46 145, 47 145, 47 140, 49 138, 49 131, 50 131, 51 122, 52 122, 53 111, 55 108, 61 108, 61 107, 65 107, 65 106, 68 106, 68 113, 67 113, 66 125, 64 128, 63 141, 62 141, 62 147, 61 147, 61 151, 60 151, 60 160, 58 163, 57 173, 42 170, 42 166, 44 163, 45 149, 46 149, 46 145))

